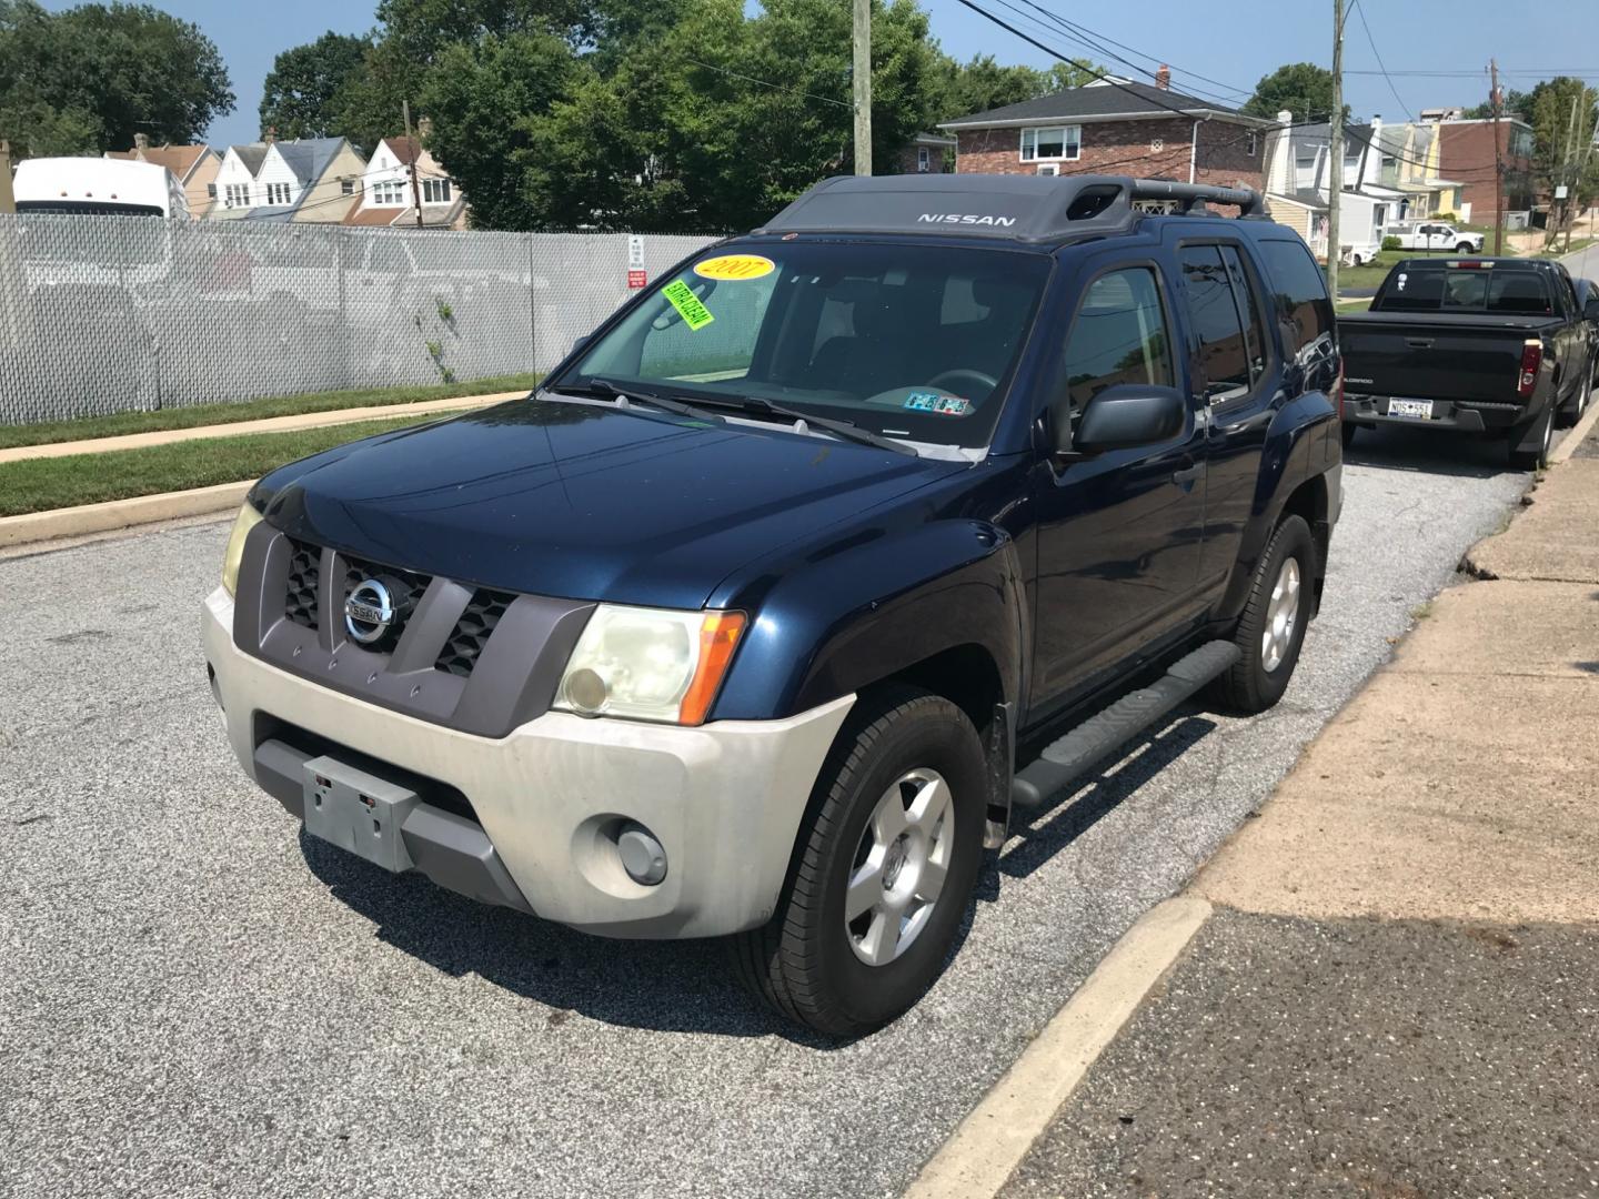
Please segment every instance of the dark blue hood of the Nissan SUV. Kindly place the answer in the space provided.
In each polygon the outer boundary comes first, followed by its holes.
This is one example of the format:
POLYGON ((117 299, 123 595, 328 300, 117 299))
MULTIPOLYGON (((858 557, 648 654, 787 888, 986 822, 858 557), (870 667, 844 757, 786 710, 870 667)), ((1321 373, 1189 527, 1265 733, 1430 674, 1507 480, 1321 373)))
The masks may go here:
POLYGON ((694 609, 755 558, 964 468, 529 396, 289 464, 254 499, 291 537, 389 566, 694 609))

